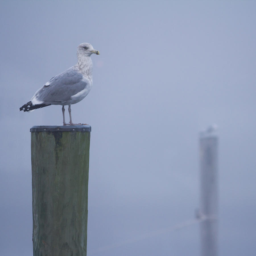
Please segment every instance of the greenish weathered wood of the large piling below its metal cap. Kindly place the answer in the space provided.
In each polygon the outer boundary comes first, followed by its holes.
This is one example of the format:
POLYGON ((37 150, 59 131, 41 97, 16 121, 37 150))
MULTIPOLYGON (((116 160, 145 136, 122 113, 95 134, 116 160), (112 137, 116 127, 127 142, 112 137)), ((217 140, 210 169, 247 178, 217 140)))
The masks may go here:
POLYGON ((89 148, 90 132, 31 132, 34 256, 86 255, 89 148))

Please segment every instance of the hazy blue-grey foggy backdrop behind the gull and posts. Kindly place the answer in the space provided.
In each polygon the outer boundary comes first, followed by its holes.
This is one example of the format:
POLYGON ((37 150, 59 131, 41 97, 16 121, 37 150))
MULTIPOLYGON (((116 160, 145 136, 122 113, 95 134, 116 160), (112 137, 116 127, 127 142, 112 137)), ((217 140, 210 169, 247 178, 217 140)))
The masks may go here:
POLYGON ((172 227, 199 207, 212 123, 219 255, 255 255, 255 1, 1 1, 0 20, 0 255, 33 255, 29 129, 62 124, 61 106, 18 109, 82 42, 100 51, 72 105, 92 126, 87 255, 199 255, 199 224, 172 227))

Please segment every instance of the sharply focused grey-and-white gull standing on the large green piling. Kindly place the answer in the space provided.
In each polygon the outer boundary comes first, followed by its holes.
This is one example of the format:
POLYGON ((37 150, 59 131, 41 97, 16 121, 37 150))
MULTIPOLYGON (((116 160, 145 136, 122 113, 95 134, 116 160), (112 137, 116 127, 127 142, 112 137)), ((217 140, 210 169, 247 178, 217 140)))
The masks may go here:
POLYGON ((20 107, 20 111, 31 111, 50 105, 62 105, 63 125, 78 125, 72 122, 71 104, 81 101, 92 87, 92 53, 100 54, 91 44, 82 43, 77 47, 77 64, 53 77, 20 107), (65 108, 69 105, 69 123, 65 122, 65 108))

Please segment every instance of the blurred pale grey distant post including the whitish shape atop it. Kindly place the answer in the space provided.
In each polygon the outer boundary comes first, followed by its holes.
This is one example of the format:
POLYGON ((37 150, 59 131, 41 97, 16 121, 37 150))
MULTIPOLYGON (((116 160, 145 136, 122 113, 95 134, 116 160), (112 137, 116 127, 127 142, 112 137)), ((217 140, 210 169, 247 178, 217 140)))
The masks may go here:
POLYGON ((218 137, 216 127, 200 133, 201 255, 217 256, 218 236, 218 137))

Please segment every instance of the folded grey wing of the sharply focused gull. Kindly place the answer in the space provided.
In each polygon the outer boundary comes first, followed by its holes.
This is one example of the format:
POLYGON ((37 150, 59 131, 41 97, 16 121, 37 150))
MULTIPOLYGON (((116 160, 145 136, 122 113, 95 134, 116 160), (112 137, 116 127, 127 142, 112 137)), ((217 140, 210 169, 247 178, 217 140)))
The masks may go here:
MULTIPOLYGON (((86 79, 87 80, 87 79, 86 79)), ((72 68, 53 77, 32 97, 32 104, 47 104, 53 102, 64 103, 72 95, 82 91, 88 81, 83 80, 83 75, 72 68)))

